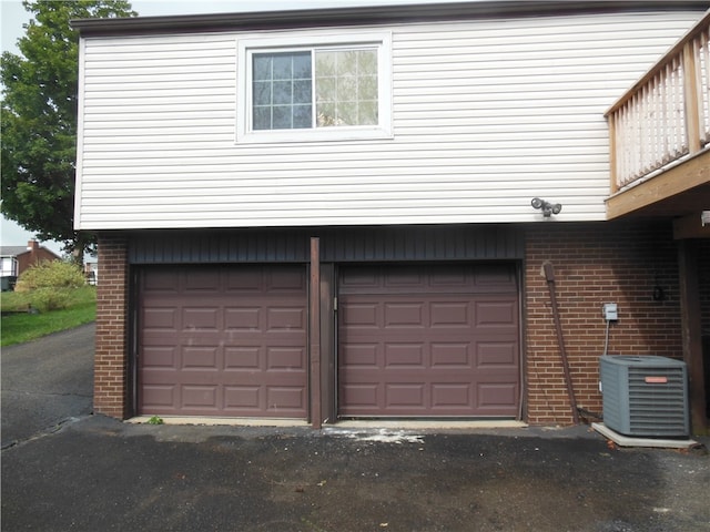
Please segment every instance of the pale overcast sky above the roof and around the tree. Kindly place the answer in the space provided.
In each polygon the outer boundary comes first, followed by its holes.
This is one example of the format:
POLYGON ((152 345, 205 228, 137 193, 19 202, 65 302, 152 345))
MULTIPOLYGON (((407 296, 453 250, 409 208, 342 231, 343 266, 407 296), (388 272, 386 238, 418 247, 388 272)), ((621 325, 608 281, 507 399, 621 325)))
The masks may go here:
MULTIPOLYGON (((283 9, 313 9, 328 7, 396 6, 412 3, 442 3, 452 0, 133 0, 131 6, 141 17, 171 14, 197 14, 217 12, 274 11, 283 9)), ((454 0, 456 1, 456 0, 454 0)), ((462 0, 459 0, 462 1, 462 0)), ((23 24, 30 16, 20 0, 0 0, 0 40, 2 51, 19 53, 17 40, 24 34, 23 24)), ((14 222, 0 219, 0 244, 22 246, 34 235, 18 226, 14 222)), ((43 246, 55 253, 61 244, 44 242, 43 246)))

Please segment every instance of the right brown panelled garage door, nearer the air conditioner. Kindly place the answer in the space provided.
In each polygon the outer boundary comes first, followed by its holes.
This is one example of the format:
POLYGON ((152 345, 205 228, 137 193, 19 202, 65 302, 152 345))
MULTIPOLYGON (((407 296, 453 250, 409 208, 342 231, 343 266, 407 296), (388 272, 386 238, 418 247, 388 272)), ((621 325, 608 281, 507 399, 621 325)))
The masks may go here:
POLYGON ((341 417, 516 417, 515 265, 343 268, 341 417))

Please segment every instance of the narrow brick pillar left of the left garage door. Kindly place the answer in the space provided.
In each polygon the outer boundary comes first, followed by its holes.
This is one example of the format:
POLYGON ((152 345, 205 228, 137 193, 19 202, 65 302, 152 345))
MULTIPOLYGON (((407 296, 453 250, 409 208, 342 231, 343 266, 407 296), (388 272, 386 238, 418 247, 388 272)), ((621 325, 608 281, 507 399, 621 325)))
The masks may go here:
POLYGON ((128 246, 99 235, 94 412, 124 419, 128 411, 128 246))

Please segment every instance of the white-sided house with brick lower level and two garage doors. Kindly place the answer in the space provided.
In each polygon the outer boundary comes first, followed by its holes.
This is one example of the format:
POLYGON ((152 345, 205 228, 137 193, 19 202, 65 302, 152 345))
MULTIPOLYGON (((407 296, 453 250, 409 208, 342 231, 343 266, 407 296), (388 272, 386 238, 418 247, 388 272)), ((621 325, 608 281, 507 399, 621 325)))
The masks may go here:
POLYGON ((74 21, 95 411, 568 423, 610 352, 702 430, 707 8, 74 21))

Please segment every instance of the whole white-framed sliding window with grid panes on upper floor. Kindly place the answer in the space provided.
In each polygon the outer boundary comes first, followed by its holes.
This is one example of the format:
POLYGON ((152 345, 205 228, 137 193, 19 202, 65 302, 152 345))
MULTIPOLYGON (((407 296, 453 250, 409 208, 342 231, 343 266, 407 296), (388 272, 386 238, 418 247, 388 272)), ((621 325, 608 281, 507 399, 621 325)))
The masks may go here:
POLYGON ((389 33, 239 41, 237 142, 392 136, 389 33))

